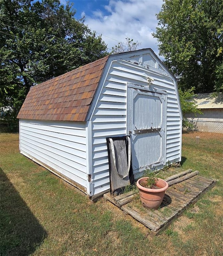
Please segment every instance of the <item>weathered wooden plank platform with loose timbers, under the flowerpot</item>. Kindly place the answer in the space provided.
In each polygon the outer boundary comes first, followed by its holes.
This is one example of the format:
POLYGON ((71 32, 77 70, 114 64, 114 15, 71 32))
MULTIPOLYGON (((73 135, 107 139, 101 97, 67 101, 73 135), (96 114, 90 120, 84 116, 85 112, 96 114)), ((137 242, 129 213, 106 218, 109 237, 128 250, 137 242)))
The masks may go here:
MULTIPOLYGON (((151 229, 151 234, 157 235, 167 228, 188 206, 197 202, 208 189, 214 187, 215 180, 198 176, 199 172, 197 171, 190 172, 192 170, 182 172, 183 175, 179 173, 171 176, 173 178, 167 178, 170 186, 158 210, 144 208, 141 202, 134 201, 132 191, 116 197, 107 193, 104 197, 151 229)), ((137 200, 140 201, 140 199, 137 200)))

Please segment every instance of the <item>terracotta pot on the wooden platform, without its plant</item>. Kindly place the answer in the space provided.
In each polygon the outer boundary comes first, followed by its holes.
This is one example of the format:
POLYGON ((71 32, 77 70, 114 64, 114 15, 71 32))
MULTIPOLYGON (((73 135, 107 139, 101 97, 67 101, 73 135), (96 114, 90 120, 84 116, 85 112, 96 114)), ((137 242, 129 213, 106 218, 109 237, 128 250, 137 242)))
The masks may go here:
POLYGON ((146 206, 151 209, 157 209, 163 201, 165 191, 168 188, 168 183, 160 178, 156 183, 158 189, 145 188, 140 184, 147 180, 148 177, 141 178, 137 181, 136 185, 139 189, 139 195, 143 206, 146 206))

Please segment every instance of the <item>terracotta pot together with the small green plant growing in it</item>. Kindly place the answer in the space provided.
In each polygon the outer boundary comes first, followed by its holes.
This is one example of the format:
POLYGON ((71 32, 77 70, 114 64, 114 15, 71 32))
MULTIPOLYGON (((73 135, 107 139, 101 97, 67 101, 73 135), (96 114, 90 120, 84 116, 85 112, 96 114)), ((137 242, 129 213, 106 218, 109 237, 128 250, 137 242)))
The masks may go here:
POLYGON ((163 201, 168 183, 150 172, 147 177, 140 178, 136 183, 143 206, 158 209, 163 201))

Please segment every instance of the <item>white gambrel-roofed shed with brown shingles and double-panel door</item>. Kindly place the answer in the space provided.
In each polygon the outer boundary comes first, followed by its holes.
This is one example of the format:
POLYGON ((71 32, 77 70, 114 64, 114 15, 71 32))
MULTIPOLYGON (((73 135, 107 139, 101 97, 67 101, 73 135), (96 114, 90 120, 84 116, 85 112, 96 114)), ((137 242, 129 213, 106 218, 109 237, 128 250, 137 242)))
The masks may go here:
POLYGON ((130 136, 135 178, 181 160, 176 78, 150 48, 33 86, 17 118, 20 152, 91 199, 110 189, 107 137, 130 136))

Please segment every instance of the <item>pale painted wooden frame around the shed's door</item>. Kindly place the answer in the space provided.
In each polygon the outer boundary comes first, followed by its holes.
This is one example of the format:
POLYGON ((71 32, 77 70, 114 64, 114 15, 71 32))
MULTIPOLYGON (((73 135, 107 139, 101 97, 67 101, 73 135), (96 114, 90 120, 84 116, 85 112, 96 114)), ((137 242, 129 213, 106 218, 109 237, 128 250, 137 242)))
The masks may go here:
MULTIPOLYGON (((133 99, 134 99, 134 90, 136 91, 141 91, 143 94, 145 93, 159 93, 161 94, 162 100, 164 105, 162 104, 162 122, 164 121, 164 126, 162 129, 162 153, 163 155, 163 161, 161 161, 159 164, 154 164, 153 167, 159 168, 159 166, 164 166, 166 165, 166 130, 167 130, 167 92, 162 91, 159 89, 154 89, 149 86, 142 86, 142 85, 137 85, 137 84, 132 84, 132 83, 127 83, 127 116, 126 116, 126 123, 127 123, 127 130, 126 130, 126 135, 131 136, 131 123, 133 123, 133 99)), ((161 167, 162 168, 162 167, 161 167)), ((143 167, 143 169, 145 169, 143 167)), ((139 169, 139 172, 142 171, 139 169)))

